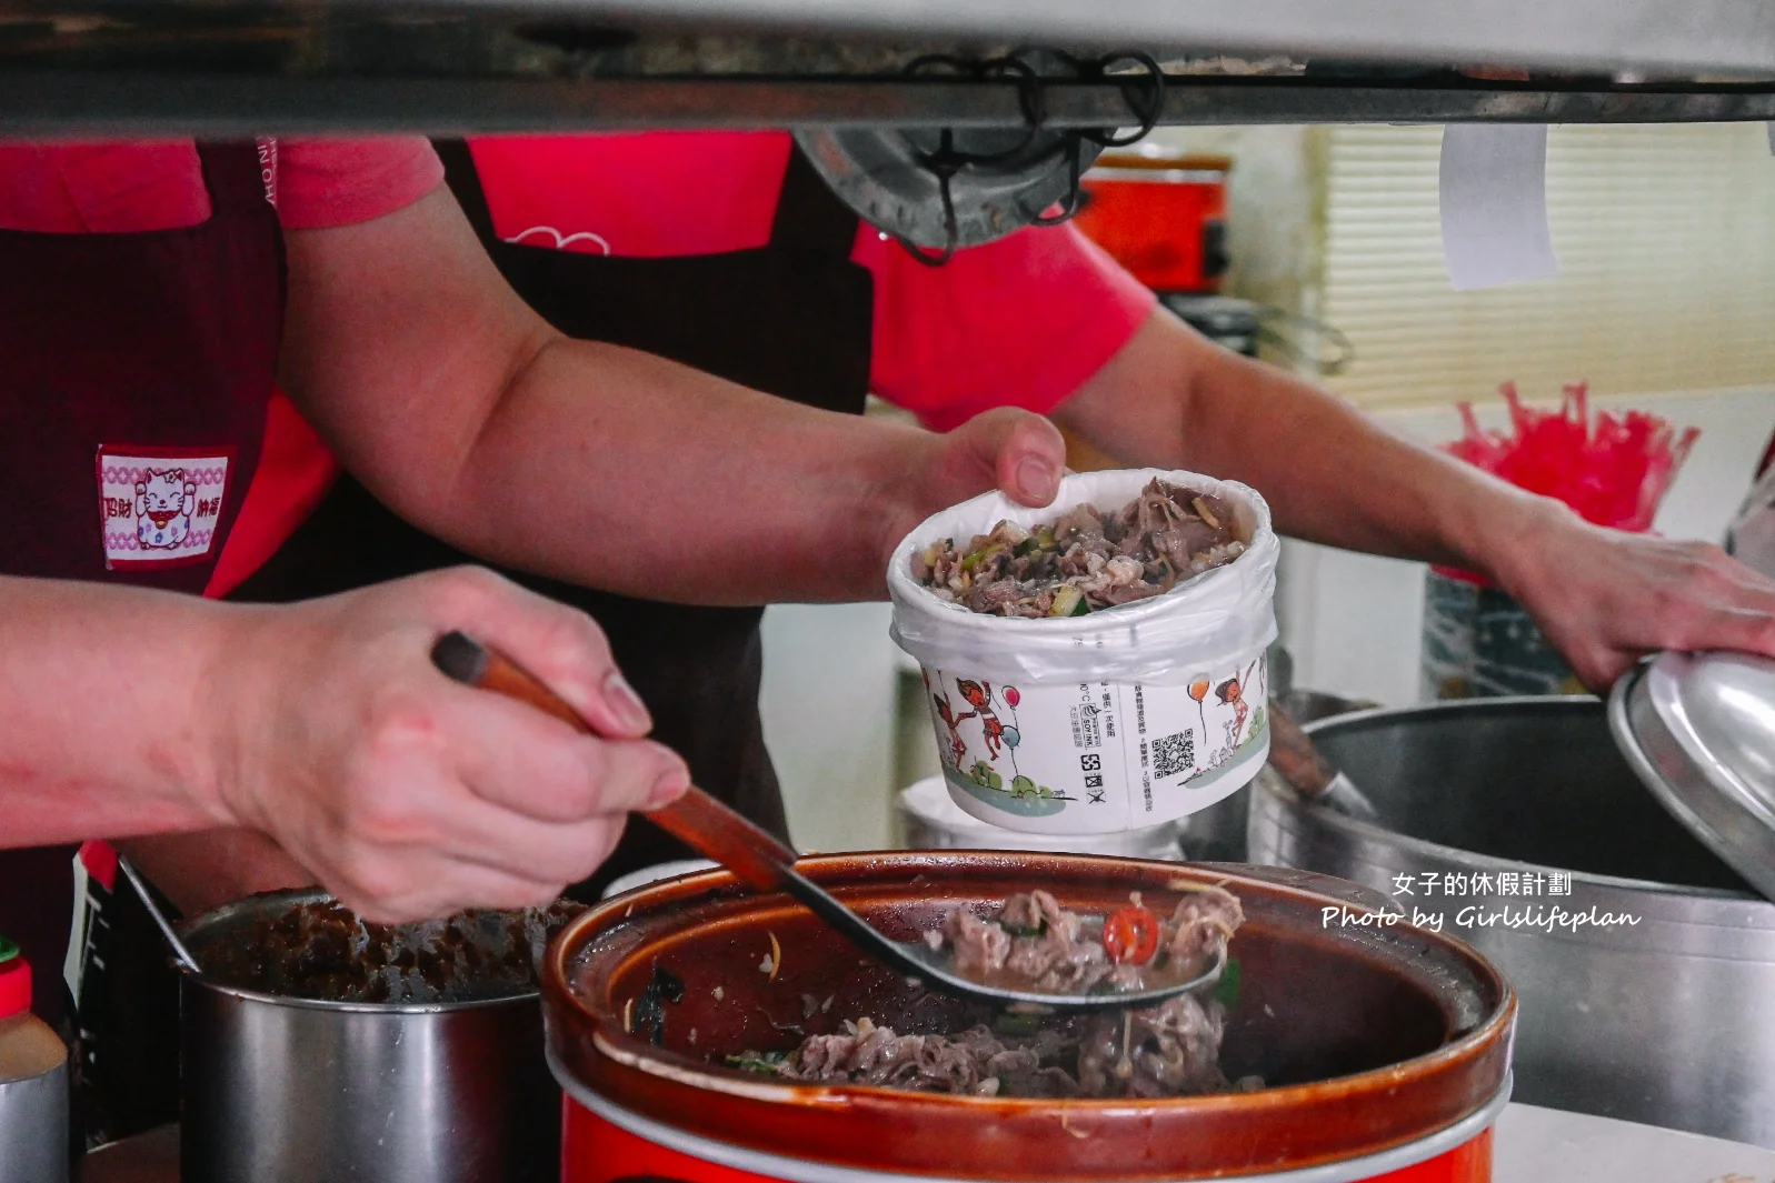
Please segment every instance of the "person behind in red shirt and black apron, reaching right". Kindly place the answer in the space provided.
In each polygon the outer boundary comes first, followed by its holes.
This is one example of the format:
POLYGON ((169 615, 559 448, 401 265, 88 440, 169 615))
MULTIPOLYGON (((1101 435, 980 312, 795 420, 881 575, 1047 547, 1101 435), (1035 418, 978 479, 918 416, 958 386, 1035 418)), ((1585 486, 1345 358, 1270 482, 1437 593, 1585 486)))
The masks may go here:
MULTIPOLYGON (((1024 408, 1131 465, 1246 481, 1289 534, 1489 573, 1594 686, 1658 647, 1775 654, 1775 585, 1716 548, 1590 527, 1397 440, 1335 396, 1207 342, 1072 227, 1019 231, 930 268, 848 213, 779 131, 438 149, 497 266, 566 333, 834 410, 861 410, 873 392, 935 429, 1024 408)), ((746 452, 760 472, 783 459, 746 452)), ((703 488, 722 495, 721 482, 703 488)), ((699 536, 694 523, 687 543, 699 536)), ((462 559, 344 479, 245 591, 311 596, 462 559)), ((783 832, 754 706, 756 610, 710 615, 657 603, 674 598, 667 589, 595 585, 540 587, 605 623, 698 782, 783 832)), ((793 594, 783 584, 756 603, 793 594)), ((600 880, 683 853, 632 825, 600 880)), ((252 874, 273 866, 270 851, 247 862, 252 874)))

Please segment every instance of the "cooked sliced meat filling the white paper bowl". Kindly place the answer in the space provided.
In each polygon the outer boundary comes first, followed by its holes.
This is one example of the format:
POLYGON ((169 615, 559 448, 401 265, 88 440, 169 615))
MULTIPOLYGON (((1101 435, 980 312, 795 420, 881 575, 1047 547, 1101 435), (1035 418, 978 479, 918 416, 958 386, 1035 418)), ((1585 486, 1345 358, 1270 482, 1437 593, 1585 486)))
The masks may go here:
POLYGON ((1154 477, 1116 513, 1077 505, 1033 532, 999 521, 967 546, 932 543, 912 555, 912 575, 974 612, 1085 615, 1159 596, 1242 553, 1230 504, 1154 477))

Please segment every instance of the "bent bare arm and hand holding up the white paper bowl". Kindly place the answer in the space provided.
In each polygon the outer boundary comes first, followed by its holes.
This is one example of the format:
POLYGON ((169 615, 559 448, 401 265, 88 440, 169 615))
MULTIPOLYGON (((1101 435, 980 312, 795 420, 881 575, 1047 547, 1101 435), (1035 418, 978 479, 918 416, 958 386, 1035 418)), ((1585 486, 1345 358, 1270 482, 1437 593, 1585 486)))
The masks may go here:
POLYGON ((447 192, 293 232, 289 261, 286 388, 396 513, 515 568, 689 603, 880 598, 925 514, 994 484, 1042 504, 1060 477, 1031 415, 939 436, 570 341, 447 192))

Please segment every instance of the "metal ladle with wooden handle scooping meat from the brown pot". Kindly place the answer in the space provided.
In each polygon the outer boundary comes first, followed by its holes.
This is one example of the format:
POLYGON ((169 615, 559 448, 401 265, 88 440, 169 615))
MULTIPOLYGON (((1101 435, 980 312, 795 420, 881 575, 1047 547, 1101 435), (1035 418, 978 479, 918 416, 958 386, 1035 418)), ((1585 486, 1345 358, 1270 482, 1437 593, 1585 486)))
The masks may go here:
MULTIPOLYGON (((467 686, 504 693, 547 715, 554 715, 584 734, 596 734, 579 711, 536 676, 467 633, 458 631, 440 637, 431 647, 431 662, 446 676, 467 686)), ((836 896, 795 871, 797 855, 793 850, 696 786, 690 786, 671 805, 648 811, 643 816, 692 850, 722 864, 747 887, 760 892, 779 890, 795 897, 877 961, 893 967, 907 977, 916 977, 943 993, 987 1002, 1001 1009, 1076 1013, 1148 1007, 1170 997, 1212 986, 1219 981, 1221 970, 1227 967, 1227 949, 1223 945, 1219 956, 1216 956, 1214 963, 1203 974, 1154 990, 1069 995, 989 986, 957 974, 953 958, 948 952, 932 949, 923 940, 905 942, 884 936, 870 922, 840 903, 836 896)))

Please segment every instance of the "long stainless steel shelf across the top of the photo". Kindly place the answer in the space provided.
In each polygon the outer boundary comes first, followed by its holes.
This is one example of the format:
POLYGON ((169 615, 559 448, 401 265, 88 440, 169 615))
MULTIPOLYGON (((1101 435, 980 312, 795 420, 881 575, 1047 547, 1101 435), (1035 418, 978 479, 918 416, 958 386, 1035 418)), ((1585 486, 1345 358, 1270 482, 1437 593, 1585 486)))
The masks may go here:
MULTIPOLYGON (((1775 119, 1764 0, 0 0, 0 133, 1015 126, 1017 83, 907 66, 1019 44, 1191 46, 1150 50, 1168 124, 1775 119)), ((1047 122, 1136 122, 1065 76, 1047 122)))

